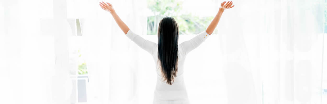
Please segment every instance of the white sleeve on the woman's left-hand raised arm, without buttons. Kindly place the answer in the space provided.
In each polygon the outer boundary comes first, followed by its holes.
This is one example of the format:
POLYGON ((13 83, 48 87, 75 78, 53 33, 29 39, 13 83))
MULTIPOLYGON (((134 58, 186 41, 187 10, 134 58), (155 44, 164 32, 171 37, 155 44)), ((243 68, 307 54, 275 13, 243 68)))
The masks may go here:
POLYGON ((131 30, 126 33, 126 36, 142 49, 146 50, 151 55, 153 54, 154 48, 157 45, 156 43, 144 39, 140 35, 133 33, 131 30))

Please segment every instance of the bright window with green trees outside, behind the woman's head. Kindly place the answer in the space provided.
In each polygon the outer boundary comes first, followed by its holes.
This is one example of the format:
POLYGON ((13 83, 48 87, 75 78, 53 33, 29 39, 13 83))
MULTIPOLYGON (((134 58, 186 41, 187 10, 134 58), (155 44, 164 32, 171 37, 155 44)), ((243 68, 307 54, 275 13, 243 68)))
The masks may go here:
MULTIPOLYGON (((201 2, 212 4, 210 0, 201 2)), ((203 32, 215 14, 204 16, 189 9, 189 7, 195 7, 196 9, 200 9, 199 11, 203 10, 205 12, 216 10, 201 9, 197 5, 198 3, 199 1, 196 0, 147 0, 147 35, 156 35, 160 20, 166 16, 173 17, 177 21, 180 34, 198 34, 203 32)))

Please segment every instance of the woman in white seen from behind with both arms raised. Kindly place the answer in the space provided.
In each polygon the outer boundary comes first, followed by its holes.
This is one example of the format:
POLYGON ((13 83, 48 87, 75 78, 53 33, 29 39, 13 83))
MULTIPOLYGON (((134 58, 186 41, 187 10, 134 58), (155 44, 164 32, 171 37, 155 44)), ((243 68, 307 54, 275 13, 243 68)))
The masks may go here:
POLYGON ((158 44, 145 40, 133 33, 127 25, 118 17, 110 3, 100 2, 103 10, 112 14, 116 23, 126 36, 141 48, 149 52, 157 62, 157 85, 154 92, 154 104, 178 103, 188 104, 189 100, 184 85, 183 65, 186 55, 198 47, 215 30, 219 19, 225 9, 232 8, 232 2, 221 3, 218 13, 212 20, 207 30, 201 32, 189 41, 178 45, 178 24, 172 17, 163 18, 158 27, 158 44))

